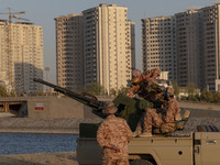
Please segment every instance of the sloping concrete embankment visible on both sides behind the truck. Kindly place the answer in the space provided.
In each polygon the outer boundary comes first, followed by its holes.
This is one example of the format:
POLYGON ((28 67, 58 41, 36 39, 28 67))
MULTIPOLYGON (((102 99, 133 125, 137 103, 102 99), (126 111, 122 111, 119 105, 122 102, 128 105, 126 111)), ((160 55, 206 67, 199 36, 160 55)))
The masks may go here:
MULTIPOLYGON (((185 131, 196 131, 197 125, 216 125, 220 130, 220 106, 207 103, 179 102, 182 112, 190 110, 191 116, 185 131)), ((30 119, 12 118, 0 113, 0 132, 9 133, 79 133, 79 123, 98 123, 100 118, 30 119)))

